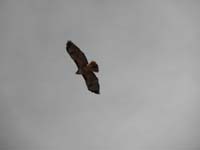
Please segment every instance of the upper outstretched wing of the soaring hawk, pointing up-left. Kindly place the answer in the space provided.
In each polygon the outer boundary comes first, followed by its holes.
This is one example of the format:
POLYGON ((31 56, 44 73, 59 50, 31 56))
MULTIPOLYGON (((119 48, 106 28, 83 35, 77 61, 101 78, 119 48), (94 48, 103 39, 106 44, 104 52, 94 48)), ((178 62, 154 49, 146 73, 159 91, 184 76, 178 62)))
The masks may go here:
POLYGON ((88 64, 85 54, 71 41, 67 42, 66 50, 78 68, 82 68, 88 64))

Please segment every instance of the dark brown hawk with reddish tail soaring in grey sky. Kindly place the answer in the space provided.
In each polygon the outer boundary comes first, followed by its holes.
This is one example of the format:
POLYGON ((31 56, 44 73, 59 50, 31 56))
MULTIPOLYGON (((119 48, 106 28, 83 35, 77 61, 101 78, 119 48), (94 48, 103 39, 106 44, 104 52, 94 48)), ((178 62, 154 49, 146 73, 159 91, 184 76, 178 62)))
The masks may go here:
POLYGON ((74 60, 78 70, 76 74, 82 75, 89 91, 100 94, 99 81, 94 72, 99 72, 98 64, 95 61, 88 63, 85 54, 74 44, 68 41, 66 51, 74 60))

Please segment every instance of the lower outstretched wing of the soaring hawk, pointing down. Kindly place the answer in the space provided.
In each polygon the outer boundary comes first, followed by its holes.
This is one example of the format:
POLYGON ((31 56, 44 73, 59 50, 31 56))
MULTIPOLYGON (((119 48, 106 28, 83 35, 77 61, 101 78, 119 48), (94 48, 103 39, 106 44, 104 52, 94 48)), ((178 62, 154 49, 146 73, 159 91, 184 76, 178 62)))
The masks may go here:
POLYGON ((99 81, 96 75, 92 71, 88 71, 85 74, 82 74, 85 79, 85 83, 89 91, 94 92, 96 94, 100 94, 100 86, 99 81))

